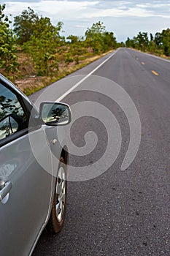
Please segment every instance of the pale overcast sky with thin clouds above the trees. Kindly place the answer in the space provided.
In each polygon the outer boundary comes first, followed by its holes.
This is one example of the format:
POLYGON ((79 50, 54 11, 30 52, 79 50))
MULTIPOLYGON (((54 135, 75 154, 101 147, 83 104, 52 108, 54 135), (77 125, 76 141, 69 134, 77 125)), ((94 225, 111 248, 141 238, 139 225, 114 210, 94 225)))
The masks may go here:
POLYGON ((31 7, 47 16, 53 24, 63 21, 62 35, 84 36, 85 30, 99 20, 117 41, 134 37, 139 31, 155 34, 170 28, 170 0, 0 0, 7 15, 20 15, 31 7))

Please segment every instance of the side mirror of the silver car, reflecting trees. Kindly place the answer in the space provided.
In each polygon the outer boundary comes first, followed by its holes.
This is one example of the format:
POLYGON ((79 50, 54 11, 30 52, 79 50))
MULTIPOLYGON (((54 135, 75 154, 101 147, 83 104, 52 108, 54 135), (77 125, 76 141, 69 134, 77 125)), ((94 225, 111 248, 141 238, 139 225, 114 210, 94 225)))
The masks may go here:
POLYGON ((57 102, 42 102, 39 107, 42 121, 47 125, 61 126, 71 122, 69 105, 57 102))

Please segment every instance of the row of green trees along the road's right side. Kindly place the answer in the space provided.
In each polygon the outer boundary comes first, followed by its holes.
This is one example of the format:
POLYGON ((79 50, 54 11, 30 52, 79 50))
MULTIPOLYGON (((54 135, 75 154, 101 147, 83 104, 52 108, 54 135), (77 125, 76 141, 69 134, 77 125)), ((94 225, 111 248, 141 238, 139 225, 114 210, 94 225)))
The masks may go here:
POLYGON ((147 32, 139 32, 133 39, 128 37, 125 46, 170 56, 170 29, 163 29, 161 33, 157 32, 155 36, 152 34, 148 36, 147 32))

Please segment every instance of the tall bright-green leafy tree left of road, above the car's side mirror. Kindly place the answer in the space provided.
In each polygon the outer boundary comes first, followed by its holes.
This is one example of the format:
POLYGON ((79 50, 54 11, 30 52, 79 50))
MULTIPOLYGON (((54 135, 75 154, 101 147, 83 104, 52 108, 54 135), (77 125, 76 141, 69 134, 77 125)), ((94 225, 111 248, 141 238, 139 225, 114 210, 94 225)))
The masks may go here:
POLYGON ((51 75, 58 69, 57 48, 62 45, 60 31, 62 24, 53 26, 50 18, 39 18, 34 23, 34 31, 30 39, 23 43, 23 50, 35 63, 37 75, 51 75))

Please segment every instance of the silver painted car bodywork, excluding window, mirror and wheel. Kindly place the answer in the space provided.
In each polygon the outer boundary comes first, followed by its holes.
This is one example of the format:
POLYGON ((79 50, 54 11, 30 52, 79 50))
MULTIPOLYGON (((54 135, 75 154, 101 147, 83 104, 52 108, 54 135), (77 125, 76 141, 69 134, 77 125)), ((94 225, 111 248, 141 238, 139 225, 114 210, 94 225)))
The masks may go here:
POLYGON ((0 181, 10 185, 0 200, 0 254, 25 256, 33 252, 50 217, 65 135, 58 128, 60 143, 57 128, 45 125, 29 99, 9 80, 1 75, 0 80, 19 95, 30 117, 29 129, 0 140, 0 181))

